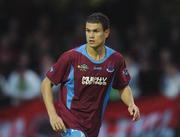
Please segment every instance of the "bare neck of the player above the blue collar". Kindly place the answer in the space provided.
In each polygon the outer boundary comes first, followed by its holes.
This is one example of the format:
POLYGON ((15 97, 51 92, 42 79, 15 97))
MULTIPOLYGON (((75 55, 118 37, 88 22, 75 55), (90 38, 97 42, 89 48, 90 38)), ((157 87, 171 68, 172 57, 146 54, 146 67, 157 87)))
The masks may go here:
POLYGON ((90 57, 92 57, 94 60, 101 60, 105 56, 105 47, 100 46, 98 48, 92 48, 90 46, 86 46, 86 51, 90 57))

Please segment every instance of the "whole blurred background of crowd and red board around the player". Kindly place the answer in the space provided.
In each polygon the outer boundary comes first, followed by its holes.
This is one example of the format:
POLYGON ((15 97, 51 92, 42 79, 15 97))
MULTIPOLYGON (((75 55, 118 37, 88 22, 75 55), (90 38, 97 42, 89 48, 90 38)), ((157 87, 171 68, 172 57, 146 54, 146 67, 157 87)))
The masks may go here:
POLYGON ((0 0, 1 137, 58 136, 40 83, 60 54, 85 43, 93 12, 110 18, 106 45, 124 55, 141 110, 131 122, 112 90, 99 137, 180 137, 179 0, 0 0))

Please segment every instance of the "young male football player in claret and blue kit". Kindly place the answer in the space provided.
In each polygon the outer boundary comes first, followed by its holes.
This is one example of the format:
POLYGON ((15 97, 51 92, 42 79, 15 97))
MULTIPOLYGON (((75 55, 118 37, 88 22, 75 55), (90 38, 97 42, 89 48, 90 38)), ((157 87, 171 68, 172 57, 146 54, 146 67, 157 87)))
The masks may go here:
POLYGON ((62 54, 42 82, 50 124, 62 137, 97 137, 112 87, 119 90, 133 120, 140 117, 128 86, 124 58, 104 45, 110 32, 109 19, 93 13, 85 29, 87 43, 62 54), (53 84, 61 84, 57 110, 53 84))

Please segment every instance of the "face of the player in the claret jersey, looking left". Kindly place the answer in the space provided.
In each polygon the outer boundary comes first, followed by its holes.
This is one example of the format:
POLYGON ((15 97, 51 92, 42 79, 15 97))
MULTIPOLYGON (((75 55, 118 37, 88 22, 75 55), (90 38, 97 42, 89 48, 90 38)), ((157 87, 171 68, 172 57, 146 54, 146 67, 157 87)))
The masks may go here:
POLYGON ((109 36, 109 29, 103 30, 100 23, 86 23, 86 41, 92 48, 103 46, 109 36))

